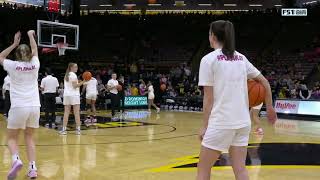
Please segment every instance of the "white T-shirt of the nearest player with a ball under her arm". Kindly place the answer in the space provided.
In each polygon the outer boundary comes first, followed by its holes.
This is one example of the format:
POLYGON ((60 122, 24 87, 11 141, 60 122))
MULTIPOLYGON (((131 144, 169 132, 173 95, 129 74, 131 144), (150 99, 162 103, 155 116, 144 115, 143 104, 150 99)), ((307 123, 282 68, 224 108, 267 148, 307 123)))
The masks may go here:
POLYGON ((213 86, 208 127, 239 129, 251 125, 247 80, 260 75, 248 59, 235 52, 232 59, 217 49, 201 60, 199 86, 213 86))

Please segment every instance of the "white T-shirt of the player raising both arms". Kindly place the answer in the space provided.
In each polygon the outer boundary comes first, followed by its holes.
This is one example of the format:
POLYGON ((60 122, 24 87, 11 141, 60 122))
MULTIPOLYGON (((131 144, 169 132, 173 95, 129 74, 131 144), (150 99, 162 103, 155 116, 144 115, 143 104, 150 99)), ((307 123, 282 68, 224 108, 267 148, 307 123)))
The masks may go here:
POLYGON ((29 62, 5 59, 3 68, 10 76, 11 108, 40 107, 38 88, 39 58, 33 56, 29 62))

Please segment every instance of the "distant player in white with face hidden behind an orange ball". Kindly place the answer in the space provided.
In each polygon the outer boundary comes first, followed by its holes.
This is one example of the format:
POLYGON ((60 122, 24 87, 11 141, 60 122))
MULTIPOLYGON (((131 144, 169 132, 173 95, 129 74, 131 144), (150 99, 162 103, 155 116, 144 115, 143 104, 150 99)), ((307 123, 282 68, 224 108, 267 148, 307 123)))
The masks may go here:
POLYGON ((82 94, 86 93, 86 103, 90 107, 87 107, 87 119, 85 123, 96 123, 96 101, 98 96, 98 81, 92 77, 88 82, 84 83, 82 88, 82 94))

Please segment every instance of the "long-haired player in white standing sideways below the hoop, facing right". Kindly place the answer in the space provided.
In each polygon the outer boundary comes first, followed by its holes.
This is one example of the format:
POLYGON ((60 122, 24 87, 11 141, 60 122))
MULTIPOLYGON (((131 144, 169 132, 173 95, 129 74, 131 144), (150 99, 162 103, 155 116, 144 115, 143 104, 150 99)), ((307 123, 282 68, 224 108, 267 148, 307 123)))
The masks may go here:
POLYGON ((76 72, 78 65, 76 63, 69 63, 66 74, 64 76, 64 92, 63 92, 63 126, 59 132, 61 135, 67 135, 67 125, 71 107, 76 121, 76 135, 81 135, 81 121, 80 121, 80 87, 86 82, 78 81, 76 72))

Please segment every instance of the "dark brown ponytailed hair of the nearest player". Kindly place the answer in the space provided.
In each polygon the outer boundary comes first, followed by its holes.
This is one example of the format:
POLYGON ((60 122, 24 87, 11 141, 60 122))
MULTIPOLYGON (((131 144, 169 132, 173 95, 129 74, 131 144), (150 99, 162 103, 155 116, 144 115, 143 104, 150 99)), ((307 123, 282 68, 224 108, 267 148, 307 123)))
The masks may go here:
POLYGON ((210 33, 213 33, 222 44, 222 52, 228 58, 232 58, 235 52, 235 33, 230 21, 214 21, 210 25, 210 33))

